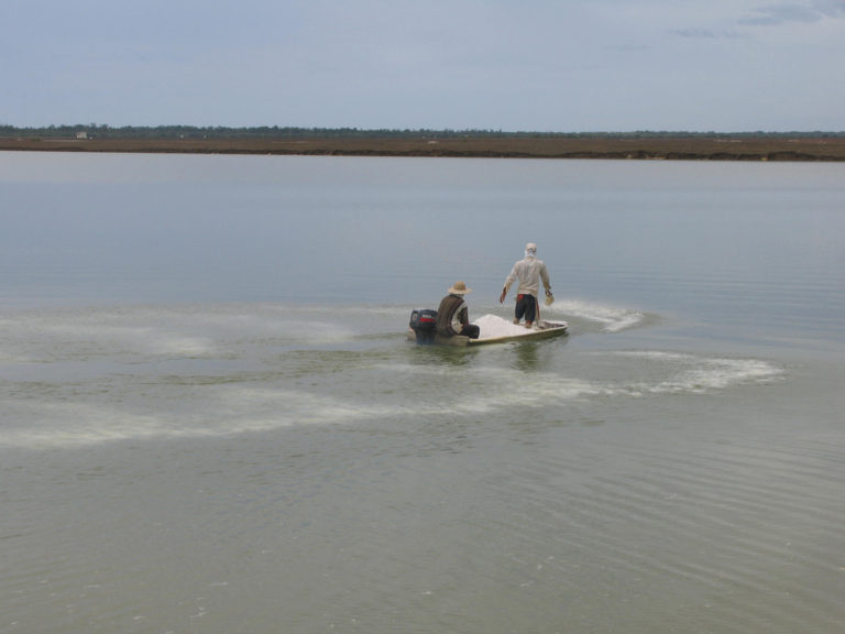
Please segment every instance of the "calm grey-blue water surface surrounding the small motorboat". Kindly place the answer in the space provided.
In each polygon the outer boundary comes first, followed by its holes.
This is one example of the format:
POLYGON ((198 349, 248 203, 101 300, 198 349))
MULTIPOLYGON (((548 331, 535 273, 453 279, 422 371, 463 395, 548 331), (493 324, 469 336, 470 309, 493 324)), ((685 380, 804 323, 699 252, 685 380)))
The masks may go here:
POLYGON ((0 632, 842 632, 841 165, 0 153, 0 632), (529 240, 569 337, 404 340, 529 240))

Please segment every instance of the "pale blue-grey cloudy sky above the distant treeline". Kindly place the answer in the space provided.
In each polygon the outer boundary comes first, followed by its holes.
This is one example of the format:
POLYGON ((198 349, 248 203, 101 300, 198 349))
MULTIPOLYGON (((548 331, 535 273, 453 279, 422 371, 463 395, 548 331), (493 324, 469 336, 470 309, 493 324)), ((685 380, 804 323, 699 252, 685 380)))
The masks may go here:
POLYGON ((845 131, 845 0, 1 0, 0 124, 845 131))

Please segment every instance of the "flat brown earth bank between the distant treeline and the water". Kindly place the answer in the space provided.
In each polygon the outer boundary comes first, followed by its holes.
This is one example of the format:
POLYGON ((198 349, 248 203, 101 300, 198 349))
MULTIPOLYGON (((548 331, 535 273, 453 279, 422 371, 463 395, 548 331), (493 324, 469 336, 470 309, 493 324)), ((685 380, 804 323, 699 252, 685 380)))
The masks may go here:
POLYGON ((845 138, 0 138, 0 151, 663 161, 845 161, 845 138))

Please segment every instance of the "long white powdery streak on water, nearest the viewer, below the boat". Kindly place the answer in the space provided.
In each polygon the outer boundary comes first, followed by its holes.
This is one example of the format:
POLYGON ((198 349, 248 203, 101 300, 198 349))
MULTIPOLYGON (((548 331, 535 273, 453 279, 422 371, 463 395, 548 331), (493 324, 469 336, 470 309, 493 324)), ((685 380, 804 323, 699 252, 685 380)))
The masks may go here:
POLYGON ((109 386, 114 390, 111 394, 80 394, 69 401, 59 395, 50 401, 8 403, 6 414, 10 419, 28 423, 7 427, 0 446, 83 447, 129 439, 224 437, 290 426, 348 425, 404 416, 478 416, 511 407, 564 405, 584 398, 712 393, 742 383, 766 383, 781 373, 778 368, 754 359, 657 351, 599 354, 628 358, 632 364, 623 365, 624 372, 616 379, 590 380, 578 376, 577 371, 575 375, 536 373, 531 381, 520 383, 519 390, 513 390, 514 372, 509 368, 456 370, 442 364, 380 364, 371 369, 375 373, 373 379, 380 373, 426 374, 448 384, 452 376, 460 374, 461 381, 484 386, 470 392, 446 392, 436 400, 425 392, 408 393, 400 402, 382 404, 279 386, 218 384, 168 389, 162 383, 138 386, 130 381, 109 386), (652 365, 647 369, 648 379, 641 378, 644 362, 652 365), (99 401, 100 397, 105 402, 99 401), (186 411, 147 409, 145 403, 150 397, 162 402, 187 400, 191 406, 186 411))

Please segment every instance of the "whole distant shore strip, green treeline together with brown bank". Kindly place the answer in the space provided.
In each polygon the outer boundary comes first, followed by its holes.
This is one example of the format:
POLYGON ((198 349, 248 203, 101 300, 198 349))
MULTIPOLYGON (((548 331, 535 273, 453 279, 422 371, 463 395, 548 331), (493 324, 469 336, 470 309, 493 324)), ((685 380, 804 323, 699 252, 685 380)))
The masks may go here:
POLYGON ((0 125, 0 151, 845 162, 845 132, 0 125))

